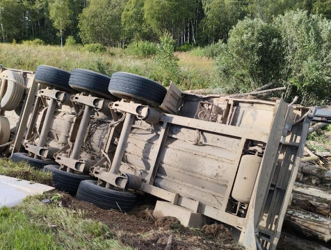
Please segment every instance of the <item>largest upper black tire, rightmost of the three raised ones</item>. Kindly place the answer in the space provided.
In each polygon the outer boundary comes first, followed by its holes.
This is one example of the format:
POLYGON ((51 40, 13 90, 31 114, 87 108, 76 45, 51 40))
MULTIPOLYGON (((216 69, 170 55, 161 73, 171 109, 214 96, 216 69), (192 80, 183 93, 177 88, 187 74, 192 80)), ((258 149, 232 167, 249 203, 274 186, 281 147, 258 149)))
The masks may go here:
POLYGON ((167 94, 167 89, 156 81, 125 72, 116 72, 111 76, 108 90, 115 97, 131 97, 152 106, 159 106, 167 94))

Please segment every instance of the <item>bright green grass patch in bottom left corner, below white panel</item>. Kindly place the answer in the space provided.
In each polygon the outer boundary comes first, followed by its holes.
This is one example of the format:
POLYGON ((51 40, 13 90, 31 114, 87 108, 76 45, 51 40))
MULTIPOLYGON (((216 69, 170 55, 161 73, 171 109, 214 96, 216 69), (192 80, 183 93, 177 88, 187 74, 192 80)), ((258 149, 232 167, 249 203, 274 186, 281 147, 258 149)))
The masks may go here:
MULTIPOLYGON (((58 194, 56 194, 58 197, 58 194)), ((15 208, 0 209, 0 249, 131 249, 100 222, 60 206, 29 197, 15 208)))

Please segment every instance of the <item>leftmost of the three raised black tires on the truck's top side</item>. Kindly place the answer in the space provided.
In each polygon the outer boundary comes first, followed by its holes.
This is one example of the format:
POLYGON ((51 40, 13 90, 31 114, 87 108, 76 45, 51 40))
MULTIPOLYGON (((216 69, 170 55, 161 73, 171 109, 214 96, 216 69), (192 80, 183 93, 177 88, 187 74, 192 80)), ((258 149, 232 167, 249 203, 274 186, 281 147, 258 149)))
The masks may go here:
POLYGON ((42 84, 47 84, 65 90, 67 92, 75 92, 69 86, 70 72, 56 67, 40 65, 35 71, 35 81, 42 84))

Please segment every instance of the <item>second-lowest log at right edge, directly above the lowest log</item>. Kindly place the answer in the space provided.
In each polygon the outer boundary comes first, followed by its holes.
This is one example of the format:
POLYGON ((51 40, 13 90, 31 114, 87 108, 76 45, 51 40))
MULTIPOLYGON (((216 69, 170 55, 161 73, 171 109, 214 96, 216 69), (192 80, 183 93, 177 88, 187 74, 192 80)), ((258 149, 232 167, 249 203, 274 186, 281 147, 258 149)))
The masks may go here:
POLYGON ((293 192, 291 206, 302 208, 311 213, 316 213, 324 217, 330 218, 331 201, 319 197, 312 197, 307 194, 293 192))

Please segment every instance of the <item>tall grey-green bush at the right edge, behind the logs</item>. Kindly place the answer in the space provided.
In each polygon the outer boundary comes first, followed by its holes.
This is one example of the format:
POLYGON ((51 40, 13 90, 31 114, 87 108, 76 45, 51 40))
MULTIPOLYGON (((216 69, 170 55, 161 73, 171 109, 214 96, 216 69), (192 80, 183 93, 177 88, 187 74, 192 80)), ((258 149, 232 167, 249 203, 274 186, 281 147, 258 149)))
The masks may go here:
POLYGON ((321 15, 289 11, 275 19, 282 34, 286 67, 282 77, 288 97, 298 95, 305 105, 331 100, 331 22, 321 15), (329 87, 328 87, 329 86, 329 87))

